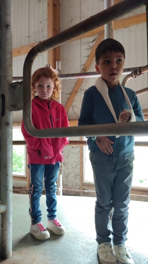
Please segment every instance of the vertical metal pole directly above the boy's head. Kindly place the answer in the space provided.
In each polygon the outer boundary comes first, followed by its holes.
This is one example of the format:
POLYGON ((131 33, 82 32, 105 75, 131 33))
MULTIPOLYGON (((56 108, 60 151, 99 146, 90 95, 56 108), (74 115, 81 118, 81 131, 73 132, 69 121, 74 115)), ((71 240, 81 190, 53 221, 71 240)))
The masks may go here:
MULTIPOLYGON (((113 5, 113 0, 104 0, 104 8, 107 9, 113 5)), ((113 39, 113 21, 105 24, 105 39, 113 39)))

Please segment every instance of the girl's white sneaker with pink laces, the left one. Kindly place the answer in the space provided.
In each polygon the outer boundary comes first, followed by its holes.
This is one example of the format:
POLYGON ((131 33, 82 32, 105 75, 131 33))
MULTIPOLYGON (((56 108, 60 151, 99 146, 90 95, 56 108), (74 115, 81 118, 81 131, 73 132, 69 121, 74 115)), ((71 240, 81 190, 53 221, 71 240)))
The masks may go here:
POLYGON ((31 224, 30 233, 39 240, 48 239, 50 237, 49 232, 44 228, 41 222, 31 224))

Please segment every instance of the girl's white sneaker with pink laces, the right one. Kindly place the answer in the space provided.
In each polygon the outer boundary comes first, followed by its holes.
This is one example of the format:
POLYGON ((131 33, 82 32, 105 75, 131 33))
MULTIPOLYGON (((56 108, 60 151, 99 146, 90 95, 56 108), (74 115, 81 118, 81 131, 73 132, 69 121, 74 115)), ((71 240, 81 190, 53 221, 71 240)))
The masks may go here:
POLYGON ((48 220, 47 227, 56 235, 63 235, 66 232, 65 227, 58 221, 58 219, 48 220))

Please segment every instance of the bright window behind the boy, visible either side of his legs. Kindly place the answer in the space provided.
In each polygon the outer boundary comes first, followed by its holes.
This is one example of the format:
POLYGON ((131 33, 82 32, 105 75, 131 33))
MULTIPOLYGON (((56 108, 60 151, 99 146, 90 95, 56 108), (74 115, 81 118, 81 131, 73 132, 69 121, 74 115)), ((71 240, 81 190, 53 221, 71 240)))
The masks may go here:
MULTIPOLYGON (((83 140, 86 140, 86 138, 83 138, 83 140)), ((148 141, 148 137, 135 137, 135 141, 148 141)), ((148 147, 134 147, 134 152, 135 160, 132 186, 148 187, 148 147)), ((94 183, 87 146, 83 146, 83 183, 94 183)))

